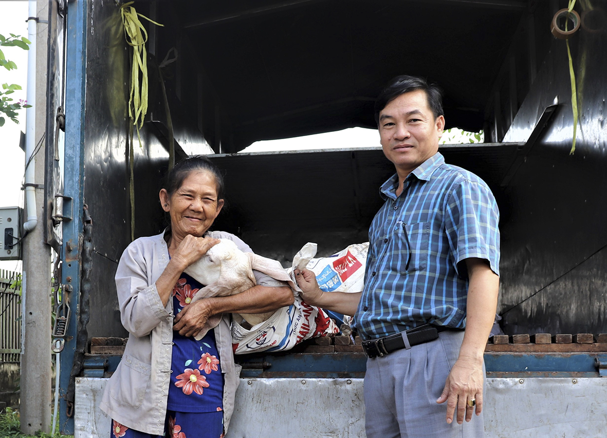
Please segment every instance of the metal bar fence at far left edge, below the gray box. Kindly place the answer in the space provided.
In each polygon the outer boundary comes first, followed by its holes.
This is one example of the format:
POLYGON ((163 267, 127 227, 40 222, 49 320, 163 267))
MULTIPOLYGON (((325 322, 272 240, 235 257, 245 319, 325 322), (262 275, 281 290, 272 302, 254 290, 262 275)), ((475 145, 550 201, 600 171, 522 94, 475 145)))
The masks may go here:
POLYGON ((0 269, 0 363, 17 362, 21 355, 21 274, 0 269))

